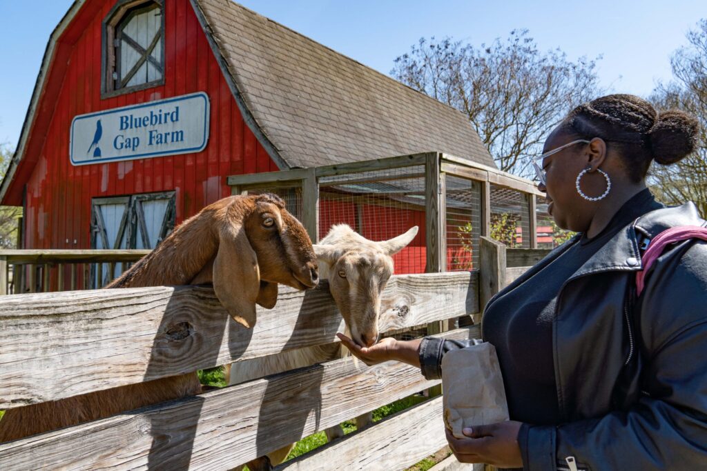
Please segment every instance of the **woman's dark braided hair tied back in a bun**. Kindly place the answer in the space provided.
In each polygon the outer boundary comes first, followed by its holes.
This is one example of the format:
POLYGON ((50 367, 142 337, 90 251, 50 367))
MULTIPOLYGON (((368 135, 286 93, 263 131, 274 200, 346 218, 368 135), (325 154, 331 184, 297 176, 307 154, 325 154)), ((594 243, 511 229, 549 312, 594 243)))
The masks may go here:
POLYGON ((616 146, 631 181, 645 178, 650 161, 670 165, 694 152, 698 122, 686 112, 658 113, 635 95, 607 95, 573 109, 560 125, 579 138, 616 146))

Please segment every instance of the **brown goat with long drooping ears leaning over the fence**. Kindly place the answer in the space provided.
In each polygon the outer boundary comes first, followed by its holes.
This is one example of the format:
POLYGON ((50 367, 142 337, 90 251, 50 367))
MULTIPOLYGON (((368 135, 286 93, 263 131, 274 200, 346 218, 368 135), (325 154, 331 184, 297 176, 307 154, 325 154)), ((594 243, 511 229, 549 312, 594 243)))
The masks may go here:
MULTIPOLYGON (((107 287, 208 282, 233 319, 252 328, 255 304, 272 308, 278 283, 300 290, 317 285, 312 242, 278 196, 231 196, 183 222, 107 287)), ((191 373, 17 407, 0 419, 0 442, 200 392, 191 373)))

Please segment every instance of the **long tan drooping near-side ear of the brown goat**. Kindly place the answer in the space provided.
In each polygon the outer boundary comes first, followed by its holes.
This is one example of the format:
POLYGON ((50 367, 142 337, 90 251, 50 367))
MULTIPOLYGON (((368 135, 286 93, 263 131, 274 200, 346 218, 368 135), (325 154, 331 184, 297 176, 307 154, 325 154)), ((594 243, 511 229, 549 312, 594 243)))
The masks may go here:
POLYGON ((225 225, 218 234, 214 259, 214 291, 233 320, 255 326, 255 303, 260 293, 258 258, 245 228, 225 225))

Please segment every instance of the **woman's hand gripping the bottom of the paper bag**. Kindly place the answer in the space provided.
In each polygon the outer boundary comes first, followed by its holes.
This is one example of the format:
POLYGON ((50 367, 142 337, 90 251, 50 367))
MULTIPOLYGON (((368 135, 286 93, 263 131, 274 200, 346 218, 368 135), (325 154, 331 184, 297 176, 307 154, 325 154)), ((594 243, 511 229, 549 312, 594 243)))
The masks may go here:
POLYGON ((457 439, 445 427, 447 441, 460 463, 486 463, 496 467, 523 467, 518 446, 522 422, 498 422, 464 429, 469 438, 457 439))

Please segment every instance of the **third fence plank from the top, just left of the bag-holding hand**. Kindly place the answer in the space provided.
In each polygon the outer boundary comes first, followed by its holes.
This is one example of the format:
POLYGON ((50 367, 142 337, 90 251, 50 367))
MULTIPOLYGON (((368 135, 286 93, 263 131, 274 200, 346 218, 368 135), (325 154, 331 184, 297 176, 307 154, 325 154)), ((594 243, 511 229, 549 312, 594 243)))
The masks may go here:
MULTIPOLYGON (((421 403, 276 467, 277 471, 404 470, 447 446, 442 398, 421 403)), ((471 469, 471 468, 469 468, 471 469)))

